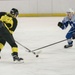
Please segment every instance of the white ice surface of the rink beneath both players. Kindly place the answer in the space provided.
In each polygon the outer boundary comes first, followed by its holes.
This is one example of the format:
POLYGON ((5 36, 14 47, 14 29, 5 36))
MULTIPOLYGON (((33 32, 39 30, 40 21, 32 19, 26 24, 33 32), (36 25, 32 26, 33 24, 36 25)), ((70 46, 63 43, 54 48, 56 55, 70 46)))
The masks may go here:
MULTIPOLYGON (((57 23, 63 17, 21 17, 14 38, 31 50, 65 39, 70 29, 61 30, 57 23)), ((40 51, 39 57, 26 51, 19 44, 19 56, 24 63, 14 63, 11 47, 6 43, 1 52, 0 75, 75 75, 75 43, 72 48, 64 49, 67 41, 40 51)))

